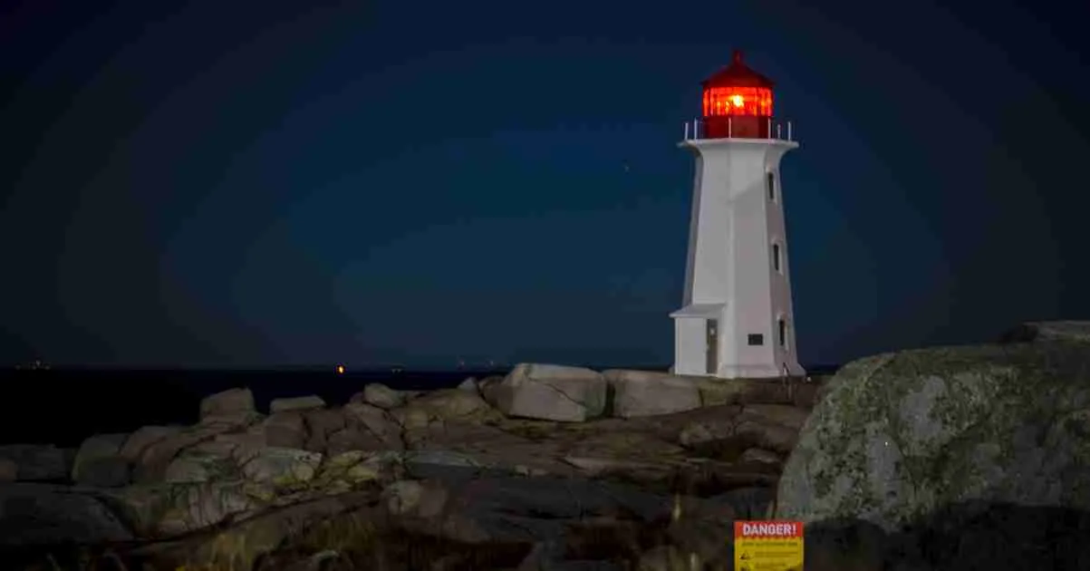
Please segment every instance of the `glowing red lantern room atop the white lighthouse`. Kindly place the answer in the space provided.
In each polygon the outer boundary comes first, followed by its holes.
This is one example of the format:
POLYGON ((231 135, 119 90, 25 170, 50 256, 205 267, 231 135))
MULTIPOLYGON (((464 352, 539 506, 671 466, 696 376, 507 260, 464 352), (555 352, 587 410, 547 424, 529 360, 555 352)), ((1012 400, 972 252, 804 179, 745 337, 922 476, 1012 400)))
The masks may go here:
POLYGON ((767 138, 772 135, 771 80, 742 62, 735 50, 730 65, 703 83, 703 137, 767 138))

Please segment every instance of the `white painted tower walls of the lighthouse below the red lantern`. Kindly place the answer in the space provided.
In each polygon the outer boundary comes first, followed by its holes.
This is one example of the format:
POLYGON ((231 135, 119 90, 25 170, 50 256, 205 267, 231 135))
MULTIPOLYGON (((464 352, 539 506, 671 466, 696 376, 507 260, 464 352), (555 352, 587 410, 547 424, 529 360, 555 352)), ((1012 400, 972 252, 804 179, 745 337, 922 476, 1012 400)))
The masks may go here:
POLYGON ((779 161, 798 143, 779 139, 686 141, 695 155, 693 205, 686 265, 685 306, 675 319, 675 370, 717 377, 778 377, 784 365, 802 375, 795 344, 795 319, 779 161), (768 199, 766 173, 776 177, 768 199), (780 268, 773 243, 780 246, 780 268), (715 307, 716 315, 708 314, 715 307), (777 318, 787 323, 786 344, 777 318), (704 319, 718 318, 718 370, 706 370, 704 319), (764 337, 748 343, 750 333, 764 337))

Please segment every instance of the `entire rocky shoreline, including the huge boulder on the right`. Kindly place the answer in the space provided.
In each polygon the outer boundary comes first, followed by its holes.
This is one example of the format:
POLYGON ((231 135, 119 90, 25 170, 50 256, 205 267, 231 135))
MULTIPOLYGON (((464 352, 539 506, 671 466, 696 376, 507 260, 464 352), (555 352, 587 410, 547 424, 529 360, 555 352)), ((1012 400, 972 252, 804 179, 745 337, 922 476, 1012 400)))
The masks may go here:
POLYGON ((191 426, 0 447, 0 557, 719 570, 734 521, 777 517, 807 522, 807 569, 1087 569, 1090 325, 1025 327, 813 382, 523 364, 264 412, 237 388, 191 426))

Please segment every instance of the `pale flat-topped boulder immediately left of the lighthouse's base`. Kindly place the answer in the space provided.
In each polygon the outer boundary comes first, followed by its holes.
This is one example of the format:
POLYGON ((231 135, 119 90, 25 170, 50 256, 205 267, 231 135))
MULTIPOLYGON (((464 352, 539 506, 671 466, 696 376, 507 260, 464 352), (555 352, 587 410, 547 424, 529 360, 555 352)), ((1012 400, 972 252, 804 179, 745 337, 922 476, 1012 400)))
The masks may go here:
POLYGON ((614 416, 654 416, 700 408, 700 388, 691 378, 622 369, 603 375, 613 389, 614 416))

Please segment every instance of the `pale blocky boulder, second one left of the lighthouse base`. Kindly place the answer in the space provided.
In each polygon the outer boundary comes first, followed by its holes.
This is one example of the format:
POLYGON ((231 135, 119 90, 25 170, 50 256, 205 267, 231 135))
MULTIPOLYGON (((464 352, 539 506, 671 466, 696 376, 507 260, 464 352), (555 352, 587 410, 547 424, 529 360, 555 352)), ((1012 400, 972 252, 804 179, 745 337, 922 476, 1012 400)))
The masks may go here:
POLYGON ((606 389, 589 368, 522 363, 485 396, 508 416, 578 423, 602 416, 606 389))

